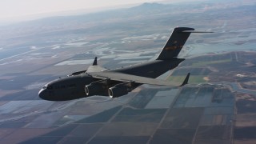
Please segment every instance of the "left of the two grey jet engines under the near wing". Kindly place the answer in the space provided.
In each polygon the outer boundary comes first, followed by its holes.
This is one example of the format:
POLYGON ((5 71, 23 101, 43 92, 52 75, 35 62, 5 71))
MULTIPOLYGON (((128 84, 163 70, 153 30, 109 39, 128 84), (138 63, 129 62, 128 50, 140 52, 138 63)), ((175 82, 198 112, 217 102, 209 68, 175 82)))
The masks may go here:
POLYGON ((102 94, 107 89, 109 80, 104 79, 96 82, 91 82, 85 86, 85 92, 87 96, 102 94))

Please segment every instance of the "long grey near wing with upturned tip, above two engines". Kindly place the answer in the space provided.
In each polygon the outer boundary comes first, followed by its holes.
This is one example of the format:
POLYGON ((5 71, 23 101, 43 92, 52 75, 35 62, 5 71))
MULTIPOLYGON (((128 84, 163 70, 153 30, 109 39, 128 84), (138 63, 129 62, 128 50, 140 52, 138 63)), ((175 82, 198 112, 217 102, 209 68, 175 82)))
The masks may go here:
POLYGON ((101 79, 110 78, 110 80, 119 81, 119 82, 136 82, 136 83, 158 85, 158 86, 184 86, 186 85, 190 76, 190 74, 188 74, 183 83, 177 83, 177 82, 166 82, 166 81, 158 80, 155 78, 146 78, 146 77, 141 77, 141 76, 131 75, 131 74, 122 74, 122 73, 117 73, 112 71, 89 72, 87 74, 89 74, 94 78, 101 78, 101 79))

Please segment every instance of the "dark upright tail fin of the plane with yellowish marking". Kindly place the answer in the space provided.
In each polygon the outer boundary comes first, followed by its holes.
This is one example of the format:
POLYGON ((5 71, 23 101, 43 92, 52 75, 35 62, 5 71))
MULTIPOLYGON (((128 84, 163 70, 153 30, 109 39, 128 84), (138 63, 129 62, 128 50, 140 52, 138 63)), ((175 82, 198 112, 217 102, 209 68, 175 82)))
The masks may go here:
POLYGON ((179 52, 182 50, 190 33, 193 32, 193 28, 189 27, 176 27, 174 28, 169 40, 166 42, 166 46, 163 47, 161 53, 157 59, 170 59, 177 58, 179 52))

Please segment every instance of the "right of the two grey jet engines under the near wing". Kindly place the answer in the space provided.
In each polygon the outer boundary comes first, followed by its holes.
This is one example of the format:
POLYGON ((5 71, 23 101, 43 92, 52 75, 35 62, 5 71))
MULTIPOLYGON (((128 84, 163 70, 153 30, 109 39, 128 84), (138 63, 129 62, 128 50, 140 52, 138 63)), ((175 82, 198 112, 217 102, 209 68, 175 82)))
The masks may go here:
POLYGON ((127 83, 121 83, 110 87, 108 90, 108 94, 110 98, 118 98, 122 95, 128 94, 131 91, 131 88, 127 83))

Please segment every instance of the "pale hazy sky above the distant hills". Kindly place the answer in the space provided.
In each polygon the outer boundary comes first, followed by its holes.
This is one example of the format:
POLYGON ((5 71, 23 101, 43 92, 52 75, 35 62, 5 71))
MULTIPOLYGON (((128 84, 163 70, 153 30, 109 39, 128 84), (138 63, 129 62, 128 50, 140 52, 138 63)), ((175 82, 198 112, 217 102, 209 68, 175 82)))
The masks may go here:
POLYGON ((16 18, 30 14, 66 10, 93 9, 159 0, 1 0, 0 18, 16 18))

